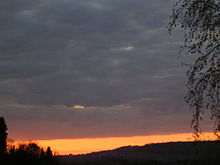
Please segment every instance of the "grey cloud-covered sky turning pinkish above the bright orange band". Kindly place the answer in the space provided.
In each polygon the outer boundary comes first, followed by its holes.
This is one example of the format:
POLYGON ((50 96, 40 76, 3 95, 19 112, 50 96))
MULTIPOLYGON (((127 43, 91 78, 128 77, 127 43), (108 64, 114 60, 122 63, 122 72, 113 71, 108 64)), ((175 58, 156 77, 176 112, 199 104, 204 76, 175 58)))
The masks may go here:
POLYGON ((18 140, 191 132, 172 0, 0 2, 0 116, 18 140))

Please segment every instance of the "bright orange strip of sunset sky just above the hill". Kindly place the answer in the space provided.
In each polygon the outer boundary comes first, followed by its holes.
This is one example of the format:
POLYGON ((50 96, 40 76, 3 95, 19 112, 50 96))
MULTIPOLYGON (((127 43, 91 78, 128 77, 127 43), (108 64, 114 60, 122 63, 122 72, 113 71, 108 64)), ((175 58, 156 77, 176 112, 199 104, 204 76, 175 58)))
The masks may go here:
MULTIPOLYGON (((203 140, 213 140, 213 133, 204 133, 203 140)), ((85 154, 95 151, 110 150, 128 145, 145 145, 171 141, 192 141, 192 133, 151 135, 134 137, 82 138, 39 140, 41 146, 50 146, 56 154, 85 154)))

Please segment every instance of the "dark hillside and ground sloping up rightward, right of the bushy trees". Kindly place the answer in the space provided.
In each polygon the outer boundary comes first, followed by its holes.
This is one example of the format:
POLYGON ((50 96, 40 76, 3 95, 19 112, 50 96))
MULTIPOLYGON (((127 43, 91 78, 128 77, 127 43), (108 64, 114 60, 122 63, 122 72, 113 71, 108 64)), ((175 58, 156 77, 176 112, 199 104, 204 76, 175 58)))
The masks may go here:
POLYGON ((220 165, 220 141, 127 146, 58 158, 71 165, 220 165))

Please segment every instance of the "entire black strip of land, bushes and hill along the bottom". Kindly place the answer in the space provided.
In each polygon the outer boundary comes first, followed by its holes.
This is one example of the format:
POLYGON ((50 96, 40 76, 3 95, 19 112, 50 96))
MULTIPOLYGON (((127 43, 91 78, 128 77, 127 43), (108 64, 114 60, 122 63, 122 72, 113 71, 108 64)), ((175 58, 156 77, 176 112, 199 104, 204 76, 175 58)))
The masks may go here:
POLYGON ((65 156, 28 144, 1 155, 0 165, 220 165, 220 141, 126 146, 65 156))

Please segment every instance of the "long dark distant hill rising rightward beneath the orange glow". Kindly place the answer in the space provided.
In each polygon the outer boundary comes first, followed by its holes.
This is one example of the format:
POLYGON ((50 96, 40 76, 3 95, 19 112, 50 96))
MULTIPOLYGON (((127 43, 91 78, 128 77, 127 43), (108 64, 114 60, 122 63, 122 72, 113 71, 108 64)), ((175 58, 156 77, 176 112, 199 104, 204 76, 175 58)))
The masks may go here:
POLYGON ((98 164, 94 162, 154 160, 168 163, 186 160, 209 160, 218 158, 218 156, 220 157, 220 141, 204 141, 125 146, 114 150, 85 155, 65 155, 59 156, 59 158, 66 162, 74 162, 75 164, 98 164))

